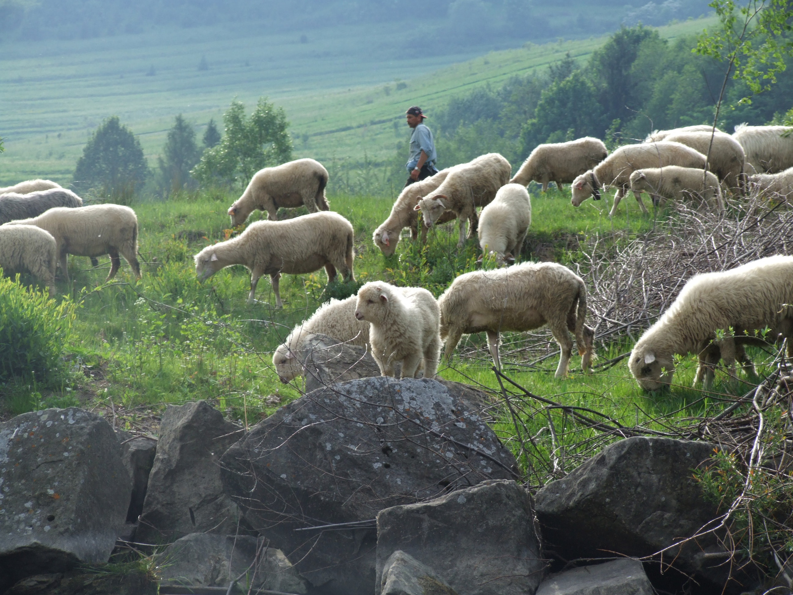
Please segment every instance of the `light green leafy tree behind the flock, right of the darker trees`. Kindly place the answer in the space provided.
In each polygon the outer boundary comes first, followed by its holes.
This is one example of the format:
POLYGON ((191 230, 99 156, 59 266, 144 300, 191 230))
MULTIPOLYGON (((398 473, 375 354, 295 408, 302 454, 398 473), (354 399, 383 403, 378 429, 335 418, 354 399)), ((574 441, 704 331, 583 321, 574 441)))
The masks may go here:
POLYGON ((292 139, 286 128, 286 114, 266 98, 245 117, 245 106, 233 101, 223 114, 226 133, 219 144, 201 155, 201 161, 190 173, 202 184, 213 182, 247 183, 262 167, 278 165, 292 159, 292 139))

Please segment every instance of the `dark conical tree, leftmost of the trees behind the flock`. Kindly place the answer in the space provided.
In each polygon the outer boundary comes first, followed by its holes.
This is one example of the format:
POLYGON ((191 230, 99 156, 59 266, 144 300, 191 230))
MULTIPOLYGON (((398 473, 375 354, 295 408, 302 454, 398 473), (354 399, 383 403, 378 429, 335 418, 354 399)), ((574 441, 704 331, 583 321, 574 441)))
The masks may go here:
POLYGON ((118 116, 111 116, 91 135, 75 168, 75 186, 119 190, 143 185, 149 173, 140 141, 118 116))

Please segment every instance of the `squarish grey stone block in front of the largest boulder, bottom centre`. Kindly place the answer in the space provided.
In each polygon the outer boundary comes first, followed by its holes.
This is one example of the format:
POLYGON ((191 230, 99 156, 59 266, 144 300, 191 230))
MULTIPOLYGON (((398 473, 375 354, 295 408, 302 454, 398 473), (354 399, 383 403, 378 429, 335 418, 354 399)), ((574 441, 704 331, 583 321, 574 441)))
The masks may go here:
MULTIPOLYGON (((529 493, 514 481, 481 482, 377 515, 377 585, 397 550, 430 566, 465 595, 524 595, 545 562, 529 493)), ((380 589, 377 595, 382 595, 380 589)))

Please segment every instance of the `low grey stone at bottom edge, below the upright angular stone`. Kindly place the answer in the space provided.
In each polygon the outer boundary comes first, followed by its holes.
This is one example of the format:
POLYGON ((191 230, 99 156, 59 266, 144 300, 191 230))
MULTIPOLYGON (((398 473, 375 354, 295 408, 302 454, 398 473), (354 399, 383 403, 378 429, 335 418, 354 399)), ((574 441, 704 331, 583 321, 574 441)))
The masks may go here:
POLYGON ((171 543, 159 560, 161 585, 228 588, 247 570, 240 585, 254 590, 308 593, 305 579, 283 552, 267 547, 266 539, 261 537, 191 533, 171 543))

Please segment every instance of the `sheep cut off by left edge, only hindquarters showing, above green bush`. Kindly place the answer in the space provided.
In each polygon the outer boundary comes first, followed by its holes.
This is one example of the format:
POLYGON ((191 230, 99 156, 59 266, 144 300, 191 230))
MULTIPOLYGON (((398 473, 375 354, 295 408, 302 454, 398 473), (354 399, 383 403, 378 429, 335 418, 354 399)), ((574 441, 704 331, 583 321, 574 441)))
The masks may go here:
POLYGON ((35 225, 0 225, 0 268, 10 273, 27 270, 55 296, 56 242, 35 225))

